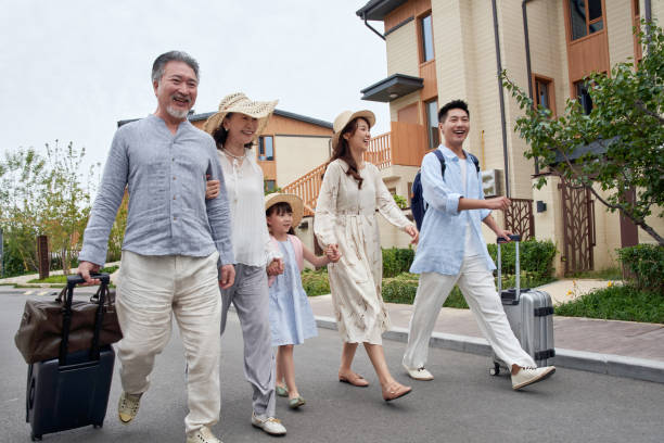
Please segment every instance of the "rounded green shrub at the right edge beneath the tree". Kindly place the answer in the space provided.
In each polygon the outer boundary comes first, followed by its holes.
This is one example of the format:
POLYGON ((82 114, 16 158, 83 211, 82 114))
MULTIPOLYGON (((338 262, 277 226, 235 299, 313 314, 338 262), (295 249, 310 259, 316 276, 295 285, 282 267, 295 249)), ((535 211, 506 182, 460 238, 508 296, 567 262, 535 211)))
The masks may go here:
POLYGON ((617 250, 618 258, 629 270, 629 279, 638 289, 664 294, 664 248, 637 244, 617 250))

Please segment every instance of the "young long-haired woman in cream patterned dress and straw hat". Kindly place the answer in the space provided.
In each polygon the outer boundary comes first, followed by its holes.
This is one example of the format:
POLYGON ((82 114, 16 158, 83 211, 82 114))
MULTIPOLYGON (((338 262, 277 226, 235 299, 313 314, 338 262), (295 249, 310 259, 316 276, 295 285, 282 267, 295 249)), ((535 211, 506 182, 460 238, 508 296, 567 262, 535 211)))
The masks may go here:
POLYGON ((339 380, 356 387, 369 382, 350 368, 362 343, 379 377, 383 398, 392 401, 410 392, 397 382, 385 362, 382 333, 390 317, 381 295, 383 260, 375 212, 401 228, 417 242, 419 232, 396 205, 378 168, 365 162, 371 111, 343 112, 334 121, 332 159, 316 205, 314 231, 323 248, 332 245, 341 261, 328 265, 336 322, 344 342, 339 380))

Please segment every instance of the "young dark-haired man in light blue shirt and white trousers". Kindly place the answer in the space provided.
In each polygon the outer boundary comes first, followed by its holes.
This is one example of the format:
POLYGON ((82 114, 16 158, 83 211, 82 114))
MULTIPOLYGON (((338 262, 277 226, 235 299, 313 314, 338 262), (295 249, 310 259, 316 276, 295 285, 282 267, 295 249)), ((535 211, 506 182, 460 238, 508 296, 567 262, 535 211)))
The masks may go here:
POLYGON ((437 149, 445 157, 445 175, 440 162, 431 152, 422 160, 422 197, 429 210, 422 220, 420 242, 411 273, 421 274, 409 325, 404 367, 416 380, 433 380, 424 368, 429 339, 438 312, 449 292, 459 286, 480 329, 494 352, 511 368, 512 388, 521 389, 551 376, 553 366, 537 368, 521 347, 508 322, 496 292, 493 270, 496 269, 481 225, 496 236, 509 240, 511 232, 500 228, 491 210, 505 211, 506 197, 484 199, 482 180, 474 163, 463 151, 470 131, 470 112, 462 100, 445 104, 438 113, 443 144, 437 149))

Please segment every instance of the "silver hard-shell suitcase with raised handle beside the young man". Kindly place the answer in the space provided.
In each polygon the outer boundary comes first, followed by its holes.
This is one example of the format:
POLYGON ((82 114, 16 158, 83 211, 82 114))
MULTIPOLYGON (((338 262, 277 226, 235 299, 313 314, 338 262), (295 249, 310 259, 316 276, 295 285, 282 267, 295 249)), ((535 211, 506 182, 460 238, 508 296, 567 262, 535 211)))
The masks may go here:
MULTIPOLYGON (((527 352, 538 367, 553 365, 556 350, 553 347, 553 304, 551 295, 545 291, 533 289, 521 289, 519 260, 519 243, 521 236, 511 236, 515 252, 515 288, 502 290, 502 263, 500 257, 500 244, 503 239, 498 239, 498 293, 502 301, 502 307, 507 314, 510 327, 521 343, 521 347, 527 352)), ((494 367, 489 372, 497 376, 500 368, 507 368, 496 354, 493 354, 494 367)), ((509 370, 508 370, 509 372, 509 370)))

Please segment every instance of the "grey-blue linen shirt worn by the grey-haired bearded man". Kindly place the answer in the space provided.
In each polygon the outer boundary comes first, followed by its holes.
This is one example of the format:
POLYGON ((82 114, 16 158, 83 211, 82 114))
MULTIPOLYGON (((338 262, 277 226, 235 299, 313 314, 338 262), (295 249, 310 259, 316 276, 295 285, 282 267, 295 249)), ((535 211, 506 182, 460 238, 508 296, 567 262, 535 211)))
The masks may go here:
POLYGON ((124 251, 204 257, 216 249, 219 266, 232 264, 230 208, 216 151, 213 138, 188 121, 175 135, 153 114, 122 126, 111 144, 78 260, 104 264, 127 187, 124 251), (206 174, 221 185, 216 199, 205 200, 206 174))

